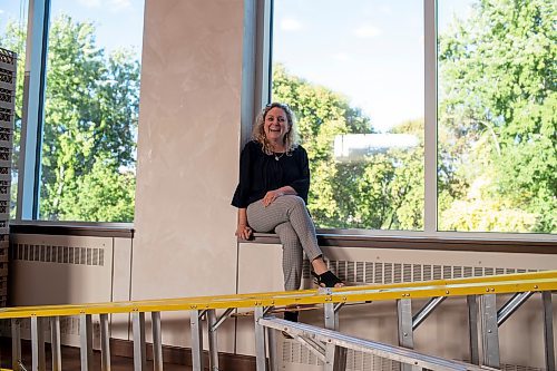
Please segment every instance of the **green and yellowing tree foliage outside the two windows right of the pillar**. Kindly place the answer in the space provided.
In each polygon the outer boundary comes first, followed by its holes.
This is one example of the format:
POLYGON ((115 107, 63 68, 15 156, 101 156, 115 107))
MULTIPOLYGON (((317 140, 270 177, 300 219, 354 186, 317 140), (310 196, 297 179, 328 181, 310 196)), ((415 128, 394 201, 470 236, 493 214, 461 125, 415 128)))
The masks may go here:
MULTIPOLYGON (((440 230, 557 230, 556 16, 550 0, 479 0, 440 36, 440 230)), ((373 133, 370 119, 283 66, 273 82, 273 99, 300 119, 317 225, 422 228, 422 119, 391 129, 417 136, 417 148, 340 162, 334 137, 373 133)))

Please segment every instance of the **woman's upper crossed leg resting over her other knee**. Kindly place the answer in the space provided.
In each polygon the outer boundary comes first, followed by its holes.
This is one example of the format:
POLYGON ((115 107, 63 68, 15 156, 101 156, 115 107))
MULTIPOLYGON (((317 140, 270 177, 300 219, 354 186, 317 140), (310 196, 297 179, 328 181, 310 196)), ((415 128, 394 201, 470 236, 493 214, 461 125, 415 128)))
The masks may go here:
POLYGON ((266 207, 261 201, 247 206, 247 223, 256 232, 271 232, 278 224, 286 222, 290 222, 295 231, 310 262, 323 255, 317 245, 313 221, 304 201, 299 196, 281 196, 266 207))

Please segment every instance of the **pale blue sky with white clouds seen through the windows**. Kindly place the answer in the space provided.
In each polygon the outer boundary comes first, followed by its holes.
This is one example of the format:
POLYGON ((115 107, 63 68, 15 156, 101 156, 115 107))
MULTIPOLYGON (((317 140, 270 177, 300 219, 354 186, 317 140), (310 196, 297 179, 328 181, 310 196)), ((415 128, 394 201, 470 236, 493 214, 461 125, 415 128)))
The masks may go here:
MULTIPOLYGON (((439 0, 442 31, 475 0, 439 0)), ((28 0, 0 0, 8 19, 25 27, 28 0), (23 20, 23 21, 21 21, 23 20)), ((387 131, 423 117, 422 0, 275 0, 273 61, 290 74, 344 95, 387 131)), ((141 51, 144 0, 51 0, 51 12, 92 20, 107 51, 141 51)))

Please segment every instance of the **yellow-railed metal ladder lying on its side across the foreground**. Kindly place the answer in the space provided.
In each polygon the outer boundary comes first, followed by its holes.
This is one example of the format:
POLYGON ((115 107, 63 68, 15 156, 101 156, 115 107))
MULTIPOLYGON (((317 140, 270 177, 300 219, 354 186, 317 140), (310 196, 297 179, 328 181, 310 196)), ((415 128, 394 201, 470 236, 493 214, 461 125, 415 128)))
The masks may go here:
MULTIPOLYGON (((343 370, 346 349, 363 350, 379 357, 391 357, 401 362, 402 369, 421 364, 431 370, 483 370, 487 367, 499 367, 498 326, 505 322, 524 302, 535 293, 543 297, 544 336, 546 343, 547 370, 555 370, 555 350, 553 335, 551 292, 557 291, 557 271, 536 273, 518 273, 455 280, 437 280, 414 283, 397 283, 368 286, 346 286, 340 289, 302 290, 290 292, 263 292, 253 294, 197 296, 182 299, 143 300, 129 302, 89 303, 72 305, 41 305, 0 309, 0 319, 10 319, 12 324, 12 363, 13 370, 21 371, 20 328, 21 319, 31 321, 32 370, 45 368, 43 329, 50 321, 52 370, 61 370, 60 318, 76 315, 80 321, 81 370, 92 367, 92 315, 100 319, 100 343, 102 370, 110 370, 110 330, 109 314, 130 313, 134 336, 134 370, 145 370, 145 314, 152 314, 153 349, 155 371, 163 370, 160 313, 185 311, 190 318, 192 363, 193 370, 202 371, 203 367, 203 328, 206 320, 209 341, 209 368, 218 370, 216 330, 236 309, 253 309, 255 325, 255 350, 257 370, 266 370, 266 350, 274 345, 265 345, 266 339, 273 339, 271 329, 294 336, 309 346, 310 351, 322 359, 325 370, 343 370), (514 294, 499 310, 496 307, 497 294, 514 294), (449 296, 466 296, 470 335, 470 359, 472 364, 443 360, 412 351, 413 331, 428 315, 449 296), (429 299, 428 303, 414 314, 412 300, 429 299), (370 303, 378 301, 397 302, 399 346, 374 343, 367 340, 346 336, 339 330, 339 311, 350 303, 370 303), (290 323, 270 315, 277 306, 321 305, 324 310, 325 328, 323 331, 304 324, 290 323), (219 316, 217 316, 217 314, 219 316), (481 326, 479 325, 481 324, 481 326), (265 335, 267 332, 267 335, 265 335), (480 336, 481 334, 481 336, 480 336), (481 338, 481 344, 479 339, 481 338), (319 340, 319 341, 317 341, 319 340), (479 360, 482 350, 483 361, 479 360), (385 349, 389 349, 385 352, 385 349)), ((268 354, 273 364, 272 355, 268 354)), ((1 371, 1 370, 0 370, 1 371)))

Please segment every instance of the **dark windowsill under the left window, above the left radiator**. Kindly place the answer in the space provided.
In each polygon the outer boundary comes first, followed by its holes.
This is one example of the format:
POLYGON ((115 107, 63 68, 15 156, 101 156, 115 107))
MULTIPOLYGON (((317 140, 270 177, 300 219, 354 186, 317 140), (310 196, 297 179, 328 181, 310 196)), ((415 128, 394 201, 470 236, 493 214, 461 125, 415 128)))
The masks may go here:
POLYGON ((133 223, 26 221, 10 222, 10 233, 133 238, 135 230, 133 223))

